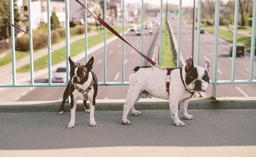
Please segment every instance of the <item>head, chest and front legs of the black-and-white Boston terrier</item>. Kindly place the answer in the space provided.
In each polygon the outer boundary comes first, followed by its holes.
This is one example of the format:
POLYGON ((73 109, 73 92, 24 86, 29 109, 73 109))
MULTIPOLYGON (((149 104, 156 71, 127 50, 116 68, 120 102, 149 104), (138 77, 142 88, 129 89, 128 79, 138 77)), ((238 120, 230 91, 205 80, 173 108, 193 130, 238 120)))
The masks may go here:
POLYGON ((91 57, 86 65, 77 65, 69 57, 70 63, 70 107, 71 120, 68 128, 73 128, 75 125, 75 109, 76 101, 84 100, 90 101, 90 126, 96 127, 94 120, 95 98, 98 92, 98 80, 92 70, 94 58, 91 57))

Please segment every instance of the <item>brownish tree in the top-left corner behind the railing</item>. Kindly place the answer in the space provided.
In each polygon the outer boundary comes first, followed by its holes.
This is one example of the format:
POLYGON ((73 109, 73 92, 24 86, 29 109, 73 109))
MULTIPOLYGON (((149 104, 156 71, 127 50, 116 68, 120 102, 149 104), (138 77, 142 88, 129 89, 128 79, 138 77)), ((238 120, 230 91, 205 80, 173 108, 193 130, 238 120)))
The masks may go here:
MULTIPOLYGON (((13 0, 13 16, 14 16, 14 25, 18 26, 18 22, 20 21, 18 7, 16 4, 16 0, 13 0)), ((1 0, 0 5, 0 16, 7 21, 11 21, 10 15, 10 0, 1 0)), ((19 30, 14 29, 14 34, 17 35, 19 30)), ((0 40, 7 39, 11 36, 11 26, 6 23, 3 19, 0 18, 0 40)))

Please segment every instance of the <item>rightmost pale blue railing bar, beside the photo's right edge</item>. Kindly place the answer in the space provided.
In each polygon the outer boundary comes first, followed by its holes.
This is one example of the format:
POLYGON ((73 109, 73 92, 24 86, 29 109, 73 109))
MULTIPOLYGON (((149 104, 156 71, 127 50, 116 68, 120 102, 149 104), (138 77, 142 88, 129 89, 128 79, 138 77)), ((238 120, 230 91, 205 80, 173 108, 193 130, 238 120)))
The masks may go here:
POLYGON ((250 70, 249 81, 253 78, 253 64, 254 64, 254 52, 255 52, 255 31, 256 31, 256 0, 253 1, 252 11, 252 30, 251 30, 251 52, 250 52, 250 70))

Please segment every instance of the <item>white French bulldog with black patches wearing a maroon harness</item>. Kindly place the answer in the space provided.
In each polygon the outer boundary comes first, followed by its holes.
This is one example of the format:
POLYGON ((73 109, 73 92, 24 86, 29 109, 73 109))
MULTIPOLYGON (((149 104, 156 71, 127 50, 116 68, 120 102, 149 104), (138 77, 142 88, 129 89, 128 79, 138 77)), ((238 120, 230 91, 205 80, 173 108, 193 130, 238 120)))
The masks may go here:
POLYGON ((207 59, 205 66, 200 67, 194 65, 192 56, 188 56, 185 64, 182 68, 167 68, 170 71, 153 66, 136 67, 129 77, 130 86, 123 106, 122 124, 131 123, 127 119, 130 110, 133 115, 141 114, 134 109, 134 104, 144 95, 169 100, 175 125, 186 126, 178 117, 178 103, 181 102, 183 118, 192 119, 193 116, 187 113, 187 105, 195 93, 205 92, 207 89, 210 61, 207 59))

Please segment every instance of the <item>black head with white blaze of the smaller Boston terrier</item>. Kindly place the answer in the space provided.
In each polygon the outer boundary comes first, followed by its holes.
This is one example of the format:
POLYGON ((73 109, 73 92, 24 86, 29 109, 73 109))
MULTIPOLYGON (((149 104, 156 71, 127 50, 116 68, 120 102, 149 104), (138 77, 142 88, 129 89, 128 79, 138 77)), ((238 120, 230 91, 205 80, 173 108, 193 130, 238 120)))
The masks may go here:
POLYGON ((89 72, 93 68, 94 58, 87 62, 86 65, 76 65, 74 61, 69 58, 70 63, 70 78, 72 84, 84 84, 88 80, 89 72))

